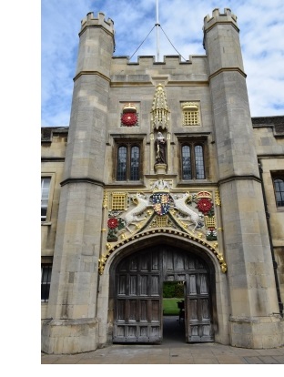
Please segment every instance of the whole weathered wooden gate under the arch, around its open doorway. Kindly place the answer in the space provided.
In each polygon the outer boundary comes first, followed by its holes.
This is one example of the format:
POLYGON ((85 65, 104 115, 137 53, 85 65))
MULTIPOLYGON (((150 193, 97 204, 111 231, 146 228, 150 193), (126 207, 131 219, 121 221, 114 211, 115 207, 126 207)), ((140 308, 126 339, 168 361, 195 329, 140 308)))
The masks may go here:
POLYGON ((214 341, 209 276, 204 260, 168 245, 121 260, 116 269, 113 341, 162 341, 166 280, 185 285, 185 341, 214 341))

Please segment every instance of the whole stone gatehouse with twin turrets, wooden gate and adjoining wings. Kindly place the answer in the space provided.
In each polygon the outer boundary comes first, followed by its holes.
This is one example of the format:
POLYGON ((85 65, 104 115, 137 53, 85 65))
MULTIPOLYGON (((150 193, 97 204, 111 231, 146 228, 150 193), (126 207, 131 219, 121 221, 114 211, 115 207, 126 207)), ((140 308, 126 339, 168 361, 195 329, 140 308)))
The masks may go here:
POLYGON ((163 283, 185 341, 284 344, 284 117, 249 112, 237 16, 204 56, 114 56, 86 15, 69 127, 42 128, 42 351, 163 342, 163 283))

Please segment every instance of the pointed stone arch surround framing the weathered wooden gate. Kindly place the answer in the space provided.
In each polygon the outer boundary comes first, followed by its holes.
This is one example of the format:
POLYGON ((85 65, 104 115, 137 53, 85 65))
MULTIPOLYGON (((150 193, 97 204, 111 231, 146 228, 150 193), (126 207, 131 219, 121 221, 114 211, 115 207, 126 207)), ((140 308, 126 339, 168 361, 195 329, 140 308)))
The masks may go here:
POLYGON ((139 255, 141 250, 155 248, 161 244, 167 244, 177 248, 184 255, 191 254, 206 262, 208 276, 210 277, 210 300, 212 302, 210 309, 212 312, 211 330, 214 330, 215 341, 228 344, 228 319, 225 312, 228 311, 227 275, 222 272, 220 261, 213 250, 208 250, 208 247, 198 242, 198 239, 188 239, 179 232, 169 231, 146 232, 143 237, 134 237, 120 244, 116 250, 109 254, 105 261, 105 269, 99 278, 98 300, 101 305, 98 305, 97 317, 100 322, 100 343, 106 344, 113 341, 112 334, 117 325, 116 297, 114 294, 114 287, 117 284, 115 280, 117 266, 121 260, 127 259, 131 255, 139 255))

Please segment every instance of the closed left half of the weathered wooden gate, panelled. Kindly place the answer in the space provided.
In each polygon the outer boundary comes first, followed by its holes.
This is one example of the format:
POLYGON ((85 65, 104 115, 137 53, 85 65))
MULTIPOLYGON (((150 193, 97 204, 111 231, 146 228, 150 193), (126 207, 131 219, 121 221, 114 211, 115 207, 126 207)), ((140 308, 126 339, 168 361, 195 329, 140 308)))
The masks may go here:
POLYGON ((161 280, 158 250, 122 260, 116 272, 113 342, 160 342, 161 280))

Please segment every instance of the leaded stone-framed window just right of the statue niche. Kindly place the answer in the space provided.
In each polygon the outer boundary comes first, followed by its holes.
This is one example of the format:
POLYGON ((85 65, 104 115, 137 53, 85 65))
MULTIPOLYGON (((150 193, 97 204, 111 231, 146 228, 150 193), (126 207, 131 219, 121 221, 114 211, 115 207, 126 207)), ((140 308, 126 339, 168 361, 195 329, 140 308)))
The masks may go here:
POLYGON ((181 177, 205 179, 204 143, 185 142, 181 147, 181 177))

